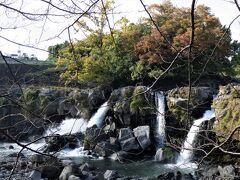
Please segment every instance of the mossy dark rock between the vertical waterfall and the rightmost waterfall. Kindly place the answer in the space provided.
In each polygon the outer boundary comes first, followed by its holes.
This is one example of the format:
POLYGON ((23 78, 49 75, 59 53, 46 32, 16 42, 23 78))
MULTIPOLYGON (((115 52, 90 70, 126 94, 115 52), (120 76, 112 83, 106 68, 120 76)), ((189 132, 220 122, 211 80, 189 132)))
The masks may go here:
POLYGON ((204 111, 209 109, 215 93, 215 90, 210 87, 192 87, 190 101, 188 102, 189 87, 169 90, 167 95, 169 113, 178 124, 189 127, 192 121, 188 120, 188 103, 191 118, 200 118, 204 111))

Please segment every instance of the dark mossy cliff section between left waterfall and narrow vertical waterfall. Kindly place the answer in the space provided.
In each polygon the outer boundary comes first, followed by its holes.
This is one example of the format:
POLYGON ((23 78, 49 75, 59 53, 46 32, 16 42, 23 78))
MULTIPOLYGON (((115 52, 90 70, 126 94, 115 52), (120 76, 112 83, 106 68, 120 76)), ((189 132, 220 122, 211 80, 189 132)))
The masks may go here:
POLYGON ((109 98, 110 114, 118 127, 137 127, 156 119, 154 93, 145 86, 116 89, 109 98))

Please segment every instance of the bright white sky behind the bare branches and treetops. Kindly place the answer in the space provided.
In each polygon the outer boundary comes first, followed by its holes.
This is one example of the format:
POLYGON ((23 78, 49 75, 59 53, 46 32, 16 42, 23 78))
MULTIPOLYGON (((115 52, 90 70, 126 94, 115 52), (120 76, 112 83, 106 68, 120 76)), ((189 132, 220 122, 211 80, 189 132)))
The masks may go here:
MULTIPOLYGON (((15 0, 16 1, 16 0, 15 0)), ((38 12, 43 6, 38 0, 25 0, 26 10, 34 10, 38 12), (33 3, 34 2, 34 3, 33 3)), ((20 0, 16 1, 20 2, 20 0)), ((161 3, 162 0, 143 0, 146 5, 161 3)), ((178 7, 190 7, 191 0, 171 0, 171 2, 178 7)), ((198 4, 205 4, 211 8, 211 12, 220 18, 223 25, 228 26, 232 19, 234 19, 240 12, 235 7, 234 4, 227 0, 198 0, 198 4)), ((143 11, 143 7, 139 0, 116 0, 116 5, 118 6, 117 11, 123 12, 121 15, 115 15, 114 20, 116 21, 121 16, 126 16, 129 20, 136 22, 140 16, 147 17, 146 12, 143 11)), ((18 7, 18 6, 16 6, 18 7)), ((65 31, 61 36, 53 38, 58 35, 66 25, 73 22, 75 17, 69 17, 69 19, 63 19, 62 17, 50 18, 50 20, 45 19, 43 21, 29 22, 20 18, 17 15, 12 15, 9 12, 4 11, 0 8, 0 50, 3 53, 16 53, 18 49, 22 52, 27 52, 28 54, 36 54, 39 59, 46 59, 48 53, 44 51, 39 51, 36 49, 20 47, 18 45, 9 43, 2 39, 1 37, 6 37, 10 40, 19 42, 21 44, 30 44, 35 47, 47 50, 48 46, 54 45, 56 43, 62 43, 68 40, 67 31, 65 31), (15 30, 4 30, 1 27, 13 27, 22 25, 23 27, 15 30), (44 30, 42 31, 42 27, 44 30), (52 40, 48 40, 53 38, 52 40)), ((231 26, 232 38, 240 41, 240 18, 235 21, 231 26)), ((81 38, 80 34, 75 34, 74 37, 81 38)))

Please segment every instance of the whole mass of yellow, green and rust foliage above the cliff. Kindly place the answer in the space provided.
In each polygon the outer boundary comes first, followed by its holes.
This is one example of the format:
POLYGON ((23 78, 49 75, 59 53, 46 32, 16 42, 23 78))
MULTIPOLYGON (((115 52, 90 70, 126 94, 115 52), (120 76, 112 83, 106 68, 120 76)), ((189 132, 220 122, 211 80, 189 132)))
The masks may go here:
MULTIPOLYGON (((116 29, 109 30, 105 13, 112 11, 114 2, 105 3, 105 8, 96 7, 99 13, 86 14, 78 22, 79 29, 86 33, 85 39, 74 41, 71 45, 65 42, 49 47, 52 52, 49 59, 55 61, 58 57, 57 67, 63 69, 60 77, 66 84, 92 82, 119 86, 132 80, 157 78, 177 53, 189 44, 189 8, 174 7, 170 1, 150 6, 149 11, 167 43, 150 19, 141 19, 134 24, 122 18, 116 23, 116 29)), ((190 58, 192 76, 197 77, 202 70, 208 74, 231 72, 231 63, 227 59, 231 55, 230 32, 203 5, 196 8, 195 27, 190 58), (222 41, 218 44, 220 38, 222 41)), ((239 69, 238 61, 238 58, 232 61, 235 71, 239 69)), ((168 73, 186 77, 187 63, 188 52, 185 51, 168 73)))

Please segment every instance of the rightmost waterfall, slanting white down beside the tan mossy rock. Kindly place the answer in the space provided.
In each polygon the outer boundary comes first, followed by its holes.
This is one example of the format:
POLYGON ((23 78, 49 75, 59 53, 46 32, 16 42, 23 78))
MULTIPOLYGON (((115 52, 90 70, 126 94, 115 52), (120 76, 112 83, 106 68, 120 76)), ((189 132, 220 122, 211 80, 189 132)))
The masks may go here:
POLYGON ((190 130, 187 134, 187 138, 183 144, 183 147, 181 149, 180 156, 177 160, 178 165, 186 164, 186 163, 190 162, 192 154, 193 154, 193 148, 194 148, 193 143, 200 131, 201 124, 204 121, 208 121, 214 117, 215 117, 214 110, 207 110, 207 111, 205 111, 202 118, 194 121, 192 127, 190 128, 190 130))

